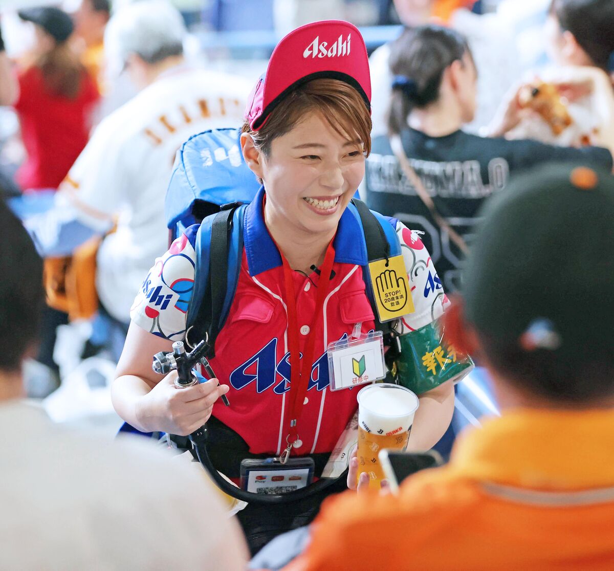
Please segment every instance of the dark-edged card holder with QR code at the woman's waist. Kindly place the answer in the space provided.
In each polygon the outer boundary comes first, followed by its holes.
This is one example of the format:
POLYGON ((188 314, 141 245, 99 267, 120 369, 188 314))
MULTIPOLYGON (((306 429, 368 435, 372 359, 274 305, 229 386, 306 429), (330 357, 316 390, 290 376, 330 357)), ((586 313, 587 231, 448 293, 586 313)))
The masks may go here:
POLYGON ((313 482, 313 458, 289 458, 282 464, 275 458, 241 461, 241 489, 254 494, 286 494, 313 482))

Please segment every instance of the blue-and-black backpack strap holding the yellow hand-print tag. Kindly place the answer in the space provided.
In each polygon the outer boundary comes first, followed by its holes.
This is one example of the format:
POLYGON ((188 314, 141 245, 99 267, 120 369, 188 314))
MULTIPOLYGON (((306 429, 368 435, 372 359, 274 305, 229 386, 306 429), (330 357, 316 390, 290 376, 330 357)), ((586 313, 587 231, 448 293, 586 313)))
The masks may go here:
MULTIPOLYGON (((367 247, 367 259, 368 262, 375 262, 375 260, 382 260, 402 255, 401 244, 398 240, 397 232, 387 217, 382 216, 379 212, 371 211, 367 204, 362 200, 354 198, 349 208, 354 213, 354 216, 359 218, 362 225, 363 240, 367 247), (353 207, 353 208, 352 208, 353 207)), ((375 316, 375 328, 386 335, 386 333, 392 332, 392 326, 394 322, 381 323, 378 319, 378 311, 375 306, 375 297, 373 294, 373 284, 371 284, 371 274, 369 272, 368 264, 363 266, 363 276, 365 283, 367 284, 367 297, 373 308, 373 315, 375 316)))

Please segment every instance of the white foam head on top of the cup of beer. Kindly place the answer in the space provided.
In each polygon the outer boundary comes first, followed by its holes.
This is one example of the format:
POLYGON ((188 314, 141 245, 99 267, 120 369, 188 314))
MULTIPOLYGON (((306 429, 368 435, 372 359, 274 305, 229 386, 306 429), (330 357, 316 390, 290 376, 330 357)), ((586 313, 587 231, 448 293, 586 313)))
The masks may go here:
POLYGON ((358 422, 379 434, 407 432, 418 409, 418 397, 389 383, 370 385, 358 394, 358 422))

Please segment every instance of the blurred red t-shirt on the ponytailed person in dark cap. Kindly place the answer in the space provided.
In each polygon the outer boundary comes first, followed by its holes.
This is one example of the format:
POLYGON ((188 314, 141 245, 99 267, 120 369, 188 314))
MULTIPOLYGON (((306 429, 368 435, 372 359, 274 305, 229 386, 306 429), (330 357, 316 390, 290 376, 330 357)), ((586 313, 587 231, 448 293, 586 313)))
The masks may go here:
POLYGON ((84 71, 76 98, 54 95, 36 66, 21 71, 18 81, 15 110, 28 158, 17 172, 17 182, 24 190, 57 188, 87 143, 98 88, 84 71))

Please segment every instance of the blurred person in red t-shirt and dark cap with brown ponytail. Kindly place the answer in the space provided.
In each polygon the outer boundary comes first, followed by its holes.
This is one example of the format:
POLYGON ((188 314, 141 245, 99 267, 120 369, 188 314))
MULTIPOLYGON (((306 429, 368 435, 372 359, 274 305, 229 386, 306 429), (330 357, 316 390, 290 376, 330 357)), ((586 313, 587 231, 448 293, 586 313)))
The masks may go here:
POLYGON ((23 190, 57 188, 87 143, 90 113, 99 94, 68 44, 71 17, 52 7, 21 10, 36 42, 19 66, 13 104, 28 157, 17 172, 23 190))

